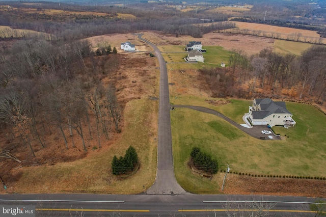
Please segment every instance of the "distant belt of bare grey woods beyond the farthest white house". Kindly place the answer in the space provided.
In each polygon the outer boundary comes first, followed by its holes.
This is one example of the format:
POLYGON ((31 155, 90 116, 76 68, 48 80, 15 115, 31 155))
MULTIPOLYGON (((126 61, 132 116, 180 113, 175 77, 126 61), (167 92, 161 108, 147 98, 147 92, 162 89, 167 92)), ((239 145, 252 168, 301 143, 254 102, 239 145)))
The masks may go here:
POLYGON ((125 33, 143 30, 162 31, 174 35, 191 35, 195 38, 202 37, 202 34, 211 32, 213 29, 222 30, 234 27, 232 23, 219 23, 211 26, 193 25, 196 23, 227 21, 228 15, 214 13, 185 12, 178 13, 174 10, 157 9, 145 10, 142 8, 121 8, 121 7, 85 7, 43 3, 38 8, 53 8, 71 11, 71 15, 44 15, 41 13, 25 13, 20 8, 28 7, 16 3, 17 10, 3 11, 0 14, 0 25, 8 25, 14 29, 34 30, 42 33, 52 34, 51 40, 74 41, 95 35, 112 33, 125 33), (107 16, 76 15, 74 11, 93 11, 107 13, 107 16), (121 19, 114 15, 117 13, 128 13, 136 18, 121 19))

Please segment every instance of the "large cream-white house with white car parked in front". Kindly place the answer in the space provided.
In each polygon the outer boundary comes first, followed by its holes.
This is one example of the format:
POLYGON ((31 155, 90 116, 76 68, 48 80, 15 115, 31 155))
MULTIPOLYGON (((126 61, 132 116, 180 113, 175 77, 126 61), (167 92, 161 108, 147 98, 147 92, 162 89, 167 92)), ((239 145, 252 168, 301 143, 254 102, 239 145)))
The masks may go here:
POLYGON ((249 106, 248 119, 253 125, 294 126, 292 114, 286 109, 285 102, 274 102, 269 98, 254 99, 249 106))

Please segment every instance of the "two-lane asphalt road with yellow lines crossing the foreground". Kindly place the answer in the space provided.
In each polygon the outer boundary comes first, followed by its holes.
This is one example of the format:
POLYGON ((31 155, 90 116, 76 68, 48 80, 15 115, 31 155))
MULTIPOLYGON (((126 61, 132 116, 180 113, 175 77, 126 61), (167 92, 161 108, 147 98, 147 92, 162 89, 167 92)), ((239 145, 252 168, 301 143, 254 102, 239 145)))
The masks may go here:
POLYGON ((309 212, 309 204, 316 200, 253 195, 40 194, 1 195, 0 205, 35 205, 37 216, 228 216, 230 209, 257 211, 259 206, 269 209, 269 216, 314 216, 309 212))

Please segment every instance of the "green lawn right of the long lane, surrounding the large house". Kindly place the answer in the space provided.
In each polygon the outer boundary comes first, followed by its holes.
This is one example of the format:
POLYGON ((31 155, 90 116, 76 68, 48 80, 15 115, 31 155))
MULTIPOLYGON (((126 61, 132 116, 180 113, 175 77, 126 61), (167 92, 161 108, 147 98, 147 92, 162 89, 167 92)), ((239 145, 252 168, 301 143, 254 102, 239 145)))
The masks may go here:
MULTIPOLYGON (((225 115, 233 114, 237 117, 241 110, 239 106, 243 104, 246 102, 233 101, 232 105, 236 107, 233 111, 228 109, 231 104, 224 105, 221 111, 225 115)), ((194 146, 211 153, 218 159, 220 169, 223 170, 229 164, 233 172, 257 175, 326 176, 326 135, 323 133, 326 117, 312 105, 286 104, 297 124, 289 129, 274 127, 281 133, 281 141, 254 139, 219 117, 187 108, 176 108, 171 112, 171 124, 178 182, 187 191, 202 194, 216 193, 221 185, 221 174, 214 175, 208 181, 207 178, 193 174, 187 167, 194 146), (195 185, 202 188, 195 191, 195 185)), ((245 112, 247 106, 243 107, 243 113, 245 112)), ((231 118, 237 119, 236 117, 231 118)))

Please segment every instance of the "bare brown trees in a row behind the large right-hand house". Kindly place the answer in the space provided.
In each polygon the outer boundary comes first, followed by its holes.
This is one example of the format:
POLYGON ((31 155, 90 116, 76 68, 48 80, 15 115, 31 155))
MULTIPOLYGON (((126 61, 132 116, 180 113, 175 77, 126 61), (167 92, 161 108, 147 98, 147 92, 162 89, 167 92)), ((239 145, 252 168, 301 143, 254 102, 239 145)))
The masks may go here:
POLYGON ((322 104, 326 97, 326 46, 313 45, 301 56, 268 49, 248 56, 230 51, 228 68, 200 70, 213 97, 288 97, 322 104))

